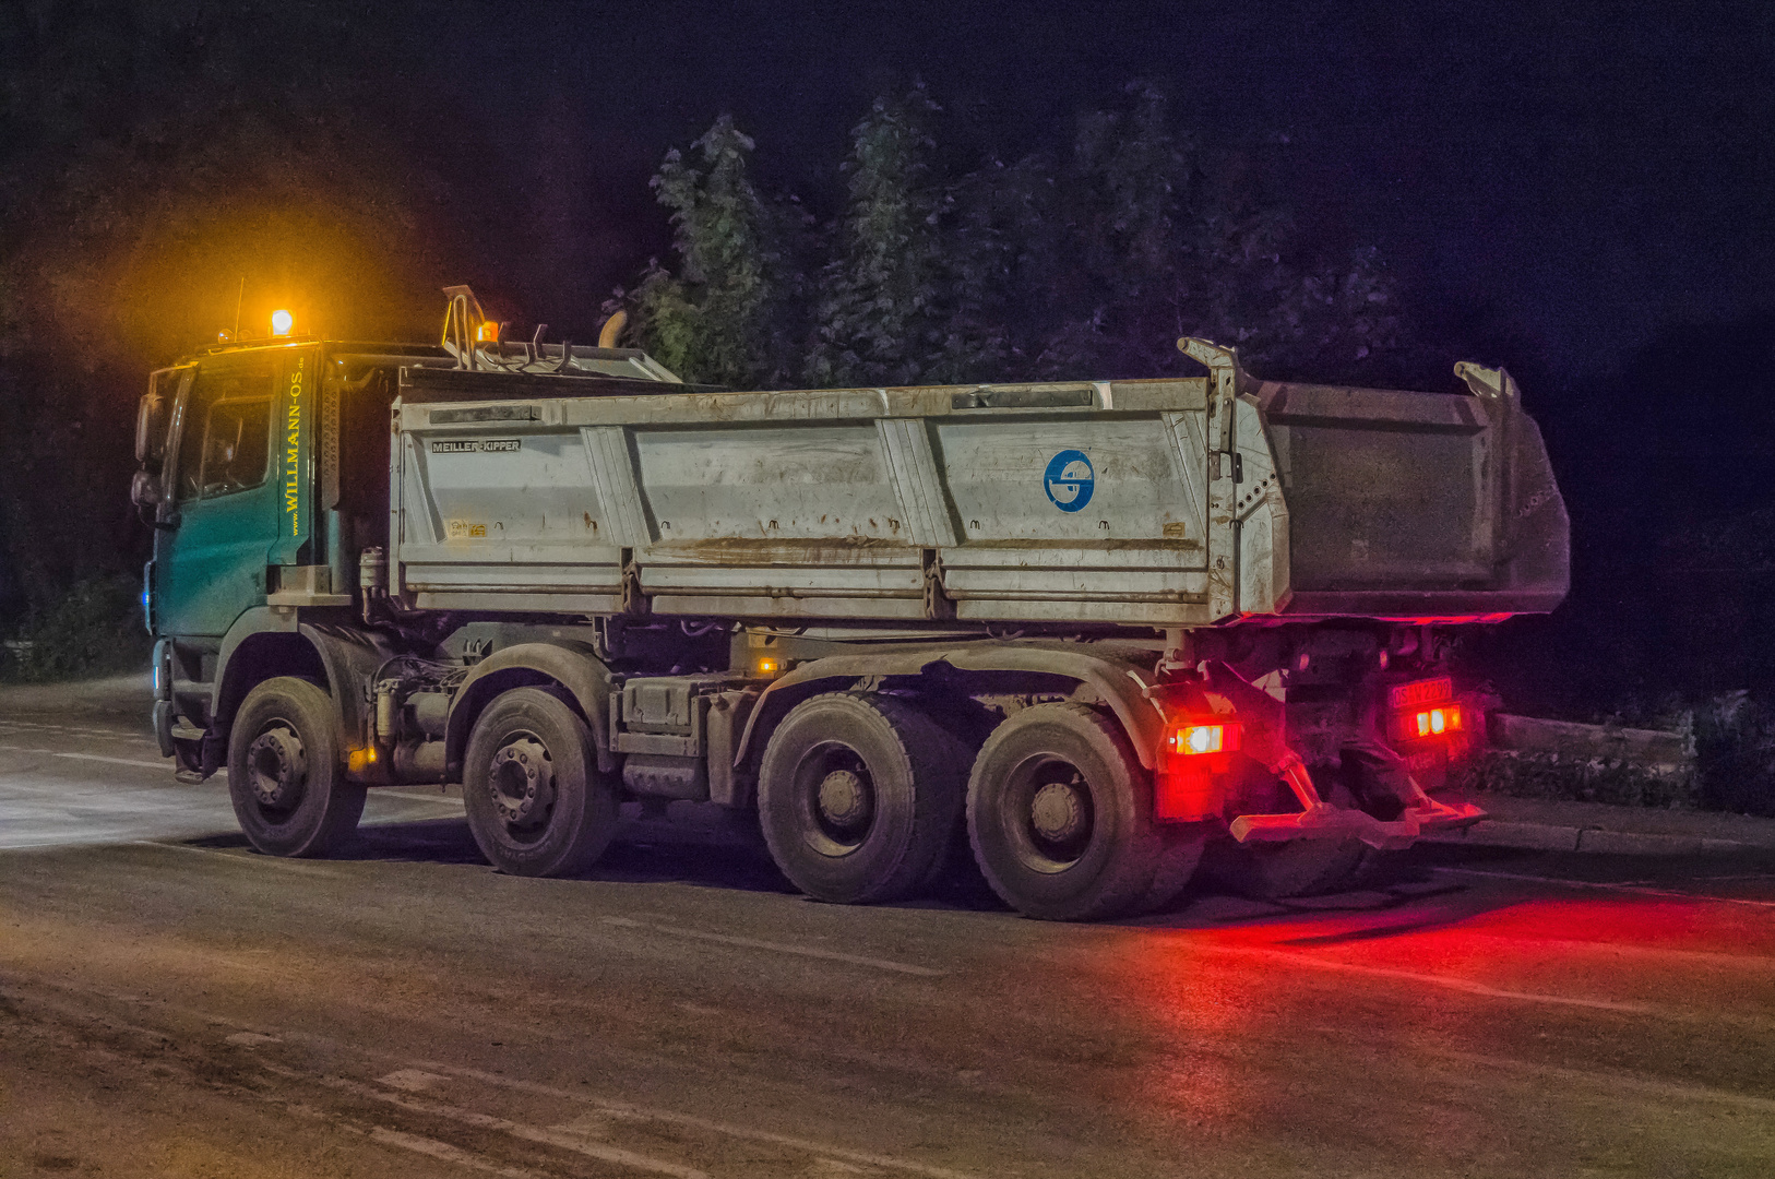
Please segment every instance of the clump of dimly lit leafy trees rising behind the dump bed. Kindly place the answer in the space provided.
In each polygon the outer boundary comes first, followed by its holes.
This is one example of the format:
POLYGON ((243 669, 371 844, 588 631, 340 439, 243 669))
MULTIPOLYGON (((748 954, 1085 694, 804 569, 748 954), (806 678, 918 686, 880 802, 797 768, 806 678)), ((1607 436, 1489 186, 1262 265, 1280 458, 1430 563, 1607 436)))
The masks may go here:
POLYGON ((630 297, 637 337, 733 385, 1180 375, 1179 336, 1276 376, 1374 382, 1408 357, 1379 254, 1306 240, 1237 158, 1173 130, 1157 87, 1081 115, 1065 151, 950 174, 941 114, 921 85, 877 99, 816 231, 756 194, 731 119, 701 167, 671 153, 653 185, 680 268, 630 297))

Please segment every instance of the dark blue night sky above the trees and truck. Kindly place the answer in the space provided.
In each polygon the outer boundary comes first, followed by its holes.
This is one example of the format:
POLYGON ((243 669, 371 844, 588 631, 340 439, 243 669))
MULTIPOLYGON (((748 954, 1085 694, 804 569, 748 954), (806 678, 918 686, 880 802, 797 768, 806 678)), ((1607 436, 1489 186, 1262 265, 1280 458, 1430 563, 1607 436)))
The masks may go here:
POLYGON ((1006 154, 1152 78, 1303 220, 1578 373, 1665 325, 1775 307, 1775 7, 1603 9, 556 5, 440 36, 422 67, 501 144, 476 158, 504 224, 469 277, 525 316, 588 318, 550 302, 595 302, 664 245, 644 179, 722 110, 767 181, 818 199, 870 98, 914 75, 1006 154), (513 252, 538 265, 518 277, 513 252))

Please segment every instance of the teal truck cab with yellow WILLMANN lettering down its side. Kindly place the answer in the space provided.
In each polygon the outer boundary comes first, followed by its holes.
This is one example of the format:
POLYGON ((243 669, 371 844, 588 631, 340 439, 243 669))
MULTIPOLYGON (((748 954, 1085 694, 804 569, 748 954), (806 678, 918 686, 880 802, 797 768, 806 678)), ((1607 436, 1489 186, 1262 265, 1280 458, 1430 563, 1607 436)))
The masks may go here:
POLYGON ((181 767, 213 721, 236 623, 277 605, 348 607, 357 549, 387 534, 389 407, 405 364, 440 348, 268 339, 153 373, 131 497, 154 529, 144 574, 160 641, 156 732, 181 767))

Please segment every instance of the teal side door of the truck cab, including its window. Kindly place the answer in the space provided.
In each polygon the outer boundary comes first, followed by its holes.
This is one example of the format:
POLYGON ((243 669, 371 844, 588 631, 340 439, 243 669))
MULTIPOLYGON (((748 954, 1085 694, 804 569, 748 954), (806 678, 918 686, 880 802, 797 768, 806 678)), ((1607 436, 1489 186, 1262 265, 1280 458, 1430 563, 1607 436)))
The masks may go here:
POLYGON ((282 517, 272 478, 279 376, 295 357, 211 357, 174 408, 172 520, 156 533, 156 618, 163 634, 220 636, 264 602, 266 552, 282 517))

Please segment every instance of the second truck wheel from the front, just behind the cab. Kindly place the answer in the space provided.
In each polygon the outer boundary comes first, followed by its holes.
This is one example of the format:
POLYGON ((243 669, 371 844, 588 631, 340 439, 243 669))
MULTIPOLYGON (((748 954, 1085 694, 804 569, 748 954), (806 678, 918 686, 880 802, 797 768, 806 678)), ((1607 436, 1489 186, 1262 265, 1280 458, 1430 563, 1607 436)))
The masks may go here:
POLYGON ((616 787, 598 774, 591 730, 538 687, 515 687, 476 719, 462 797, 481 854, 509 875, 575 875, 616 833, 616 787))

